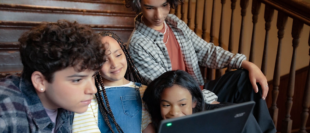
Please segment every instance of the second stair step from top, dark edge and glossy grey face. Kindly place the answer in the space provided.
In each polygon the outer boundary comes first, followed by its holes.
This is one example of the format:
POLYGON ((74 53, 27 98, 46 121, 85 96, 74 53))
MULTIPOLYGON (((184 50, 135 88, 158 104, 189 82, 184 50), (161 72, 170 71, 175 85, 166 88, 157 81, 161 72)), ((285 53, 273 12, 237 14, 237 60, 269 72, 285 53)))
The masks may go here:
POLYGON ((135 14, 124 11, 100 11, 65 7, 0 4, 0 18, 6 21, 77 20, 83 24, 133 25, 135 14))

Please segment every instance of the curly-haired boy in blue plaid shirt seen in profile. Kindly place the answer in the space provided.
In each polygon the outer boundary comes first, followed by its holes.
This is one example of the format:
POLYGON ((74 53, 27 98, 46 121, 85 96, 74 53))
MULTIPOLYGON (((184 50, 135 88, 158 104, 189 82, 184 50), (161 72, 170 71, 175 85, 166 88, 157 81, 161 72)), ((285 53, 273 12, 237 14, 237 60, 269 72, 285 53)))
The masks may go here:
POLYGON ((18 41, 24 69, 21 77, 0 80, 0 132, 71 132, 73 112, 84 113, 97 92, 100 36, 60 20, 31 28, 18 41))

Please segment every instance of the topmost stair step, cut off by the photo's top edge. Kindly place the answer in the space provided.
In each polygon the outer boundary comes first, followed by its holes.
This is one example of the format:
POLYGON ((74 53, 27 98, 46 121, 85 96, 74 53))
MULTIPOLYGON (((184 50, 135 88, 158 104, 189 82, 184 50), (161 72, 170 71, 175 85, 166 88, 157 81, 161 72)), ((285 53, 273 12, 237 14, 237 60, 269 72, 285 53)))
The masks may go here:
POLYGON ((1 3, 131 12, 119 0, 1 0, 1 3))

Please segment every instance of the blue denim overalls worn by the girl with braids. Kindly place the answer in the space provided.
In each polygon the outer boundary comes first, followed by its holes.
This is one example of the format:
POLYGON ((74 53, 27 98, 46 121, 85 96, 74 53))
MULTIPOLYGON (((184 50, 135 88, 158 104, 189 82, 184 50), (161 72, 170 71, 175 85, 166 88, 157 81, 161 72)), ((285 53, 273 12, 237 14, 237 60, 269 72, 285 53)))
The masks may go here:
MULTIPOLYGON (((135 83, 135 85, 135 88, 111 87, 105 89, 115 121, 124 133, 141 133, 142 101, 139 87, 142 85, 141 83, 135 83)), ((102 92, 101 95, 103 97, 102 92)), ((108 117, 113 131, 117 132, 112 118, 108 117)), ((98 127, 101 133, 111 132, 100 109, 98 110, 98 127)))

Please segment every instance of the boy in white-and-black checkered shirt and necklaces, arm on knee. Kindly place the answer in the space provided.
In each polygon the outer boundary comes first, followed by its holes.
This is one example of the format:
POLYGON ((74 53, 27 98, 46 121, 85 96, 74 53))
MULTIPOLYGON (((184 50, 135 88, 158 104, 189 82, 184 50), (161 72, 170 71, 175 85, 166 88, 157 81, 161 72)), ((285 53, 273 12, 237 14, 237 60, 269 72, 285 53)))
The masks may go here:
POLYGON ((148 84, 166 71, 184 70, 204 87, 207 103, 216 103, 215 100, 233 103, 254 100, 254 116, 259 124, 262 123, 262 130, 273 130, 264 101, 268 93, 266 77, 255 64, 246 61, 245 55, 232 54, 204 41, 184 21, 169 14, 170 7, 177 7, 180 1, 126 0, 126 7, 139 13, 128 40, 128 51, 144 82, 148 84), (198 64, 212 69, 229 67, 246 70, 226 73, 205 84, 198 64), (261 86, 257 86, 257 82, 261 86))

